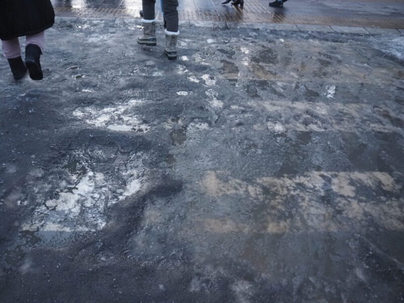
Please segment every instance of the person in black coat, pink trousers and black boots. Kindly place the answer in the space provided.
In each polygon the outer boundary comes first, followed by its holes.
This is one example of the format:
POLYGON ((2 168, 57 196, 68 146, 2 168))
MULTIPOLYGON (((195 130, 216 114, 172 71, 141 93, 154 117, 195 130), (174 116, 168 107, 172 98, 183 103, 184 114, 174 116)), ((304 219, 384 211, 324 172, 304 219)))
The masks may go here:
POLYGON ((50 0, 0 0, 0 39, 3 54, 14 79, 27 72, 33 80, 41 80, 40 56, 45 43, 45 30, 55 23, 50 0), (25 63, 21 58, 19 37, 26 36, 25 63))

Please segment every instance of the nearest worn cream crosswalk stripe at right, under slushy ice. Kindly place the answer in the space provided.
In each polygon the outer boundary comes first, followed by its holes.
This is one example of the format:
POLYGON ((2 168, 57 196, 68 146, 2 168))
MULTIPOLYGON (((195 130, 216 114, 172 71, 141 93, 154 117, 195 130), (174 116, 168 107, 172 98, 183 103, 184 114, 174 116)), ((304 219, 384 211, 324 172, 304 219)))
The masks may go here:
POLYGON ((261 201, 268 208, 264 212, 275 215, 268 216, 262 222, 263 227, 271 234, 284 233, 291 229, 300 231, 302 227, 317 232, 352 232, 369 228, 369 225, 398 231, 404 228, 404 215, 400 211, 403 198, 399 195, 402 185, 385 172, 318 171, 263 177, 252 183, 229 179, 223 172, 207 172, 201 184, 207 194, 216 198, 241 194, 255 203, 259 204, 261 201), (271 189, 270 204, 264 188, 271 189), (335 205, 338 207, 324 204, 322 197, 328 188, 336 193, 335 205), (389 191, 391 196, 380 196, 380 188, 389 191), (293 206, 292 218, 286 221, 274 219, 279 212, 291 211, 285 201, 292 196, 301 197, 293 206))

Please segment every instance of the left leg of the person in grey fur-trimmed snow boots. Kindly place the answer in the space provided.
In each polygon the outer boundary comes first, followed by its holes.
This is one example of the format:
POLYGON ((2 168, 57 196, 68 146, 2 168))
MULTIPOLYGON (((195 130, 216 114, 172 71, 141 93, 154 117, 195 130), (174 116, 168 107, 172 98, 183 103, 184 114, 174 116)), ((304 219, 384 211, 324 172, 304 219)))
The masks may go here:
POLYGON ((156 15, 155 15, 156 0, 142 0, 143 8, 143 36, 137 38, 137 43, 155 46, 156 39, 156 15))

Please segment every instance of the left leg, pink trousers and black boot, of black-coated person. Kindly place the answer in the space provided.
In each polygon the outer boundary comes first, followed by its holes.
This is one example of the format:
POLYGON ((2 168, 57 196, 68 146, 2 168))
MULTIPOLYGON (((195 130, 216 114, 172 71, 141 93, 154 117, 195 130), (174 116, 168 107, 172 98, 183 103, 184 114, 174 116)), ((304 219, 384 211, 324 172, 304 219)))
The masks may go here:
POLYGON ((24 62, 21 58, 20 41, 18 38, 2 41, 3 54, 7 58, 14 79, 20 80, 27 72, 24 62))

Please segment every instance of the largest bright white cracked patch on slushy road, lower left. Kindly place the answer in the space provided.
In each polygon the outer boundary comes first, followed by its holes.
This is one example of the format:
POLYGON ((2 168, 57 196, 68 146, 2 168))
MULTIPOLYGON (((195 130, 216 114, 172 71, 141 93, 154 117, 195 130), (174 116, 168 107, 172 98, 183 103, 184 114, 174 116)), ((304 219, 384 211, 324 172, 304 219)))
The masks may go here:
MULTIPOLYGON (((76 151, 78 157, 84 154, 76 151)), ((43 203, 37 205, 21 230, 37 232, 44 240, 53 240, 72 232, 103 229, 109 208, 141 189, 141 158, 138 154, 130 156, 131 164, 116 166, 114 173, 108 175, 83 165, 77 171, 63 169, 58 173, 62 179, 57 184, 53 176, 42 177, 32 191, 33 199, 43 203)))

